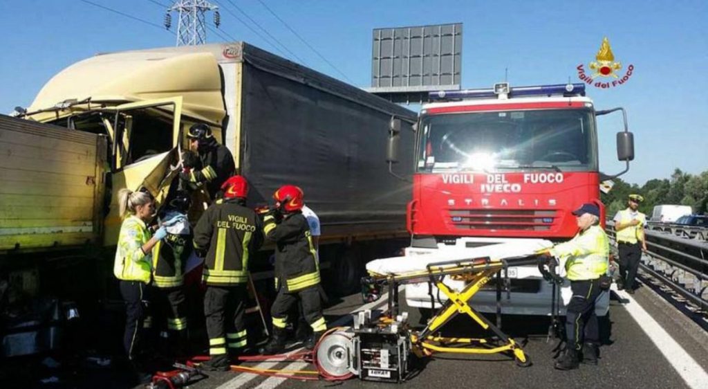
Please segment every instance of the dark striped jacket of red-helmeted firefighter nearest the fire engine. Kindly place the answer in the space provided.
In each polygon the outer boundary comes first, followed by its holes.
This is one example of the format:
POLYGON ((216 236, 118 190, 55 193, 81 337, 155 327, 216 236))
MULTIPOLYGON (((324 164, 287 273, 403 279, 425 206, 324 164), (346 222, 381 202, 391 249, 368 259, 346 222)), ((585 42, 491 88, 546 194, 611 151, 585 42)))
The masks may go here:
POLYGON ((275 242, 275 282, 287 292, 317 286, 319 261, 307 219, 294 213, 278 223, 273 215, 263 220, 265 237, 275 242))

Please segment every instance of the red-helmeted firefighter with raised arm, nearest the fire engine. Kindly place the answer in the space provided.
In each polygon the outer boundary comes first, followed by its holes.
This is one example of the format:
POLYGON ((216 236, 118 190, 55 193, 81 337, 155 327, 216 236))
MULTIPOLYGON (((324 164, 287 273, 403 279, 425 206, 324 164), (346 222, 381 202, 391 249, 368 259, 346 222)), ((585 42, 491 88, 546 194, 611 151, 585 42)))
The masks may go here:
POLYGON ((275 209, 263 219, 265 237, 275 242, 275 297, 270 315, 273 335, 261 354, 280 354, 285 349, 287 312, 298 301, 313 334, 305 344, 314 349, 327 329, 319 292, 319 262, 307 220, 302 215, 302 189, 281 186, 273 194, 275 209))

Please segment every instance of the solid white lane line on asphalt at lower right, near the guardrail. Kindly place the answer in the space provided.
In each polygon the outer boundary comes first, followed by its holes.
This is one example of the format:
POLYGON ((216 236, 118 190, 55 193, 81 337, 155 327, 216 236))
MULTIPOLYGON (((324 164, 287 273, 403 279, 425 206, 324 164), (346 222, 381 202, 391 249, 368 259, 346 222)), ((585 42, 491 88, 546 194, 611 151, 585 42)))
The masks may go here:
POLYGON ((629 301, 629 304, 622 304, 624 309, 629 312, 636 324, 641 327, 646 336, 661 351, 661 354, 673 366, 679 376, 683 378, 686 385, 690 386, 690 388, 705 388, 706 383, 708 383, 708 373, 703 370, 695 359, 629 293, 624 291, 615 291, 615 293, 617 293, 619 298, 629 301))

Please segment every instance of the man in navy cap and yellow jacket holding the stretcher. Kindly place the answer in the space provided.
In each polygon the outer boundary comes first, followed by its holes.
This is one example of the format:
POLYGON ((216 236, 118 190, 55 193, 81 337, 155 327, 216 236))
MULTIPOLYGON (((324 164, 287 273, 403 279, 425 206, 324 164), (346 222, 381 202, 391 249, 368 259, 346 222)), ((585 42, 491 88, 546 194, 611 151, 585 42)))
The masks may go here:
POLYGON ((554 367, 559 370, 578 368, 581 349, 583 363, 598 363, 598 317, 595 300, 601 293, 600 278, 607 274, 610 241, 600 227, 600 208, 586 203, 573 211, 580 231, 568 242, 556 244, 548 254, 539 256, 541 264, 565 261, 566 276, 573 296, 566 308, 566 349, 554 367), (584 344, 583 344, 584 335, 584 344))

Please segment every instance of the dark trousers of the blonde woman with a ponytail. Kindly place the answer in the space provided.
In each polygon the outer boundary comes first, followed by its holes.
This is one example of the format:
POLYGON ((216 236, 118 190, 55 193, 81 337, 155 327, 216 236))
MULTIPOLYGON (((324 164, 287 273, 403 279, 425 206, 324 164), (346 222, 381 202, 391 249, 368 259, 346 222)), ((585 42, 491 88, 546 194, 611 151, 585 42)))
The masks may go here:
POLYGON ((120 281, 120 294, 125 301, 125 332, 123 347, 128 359, 136 360, 145 349, 146 320, 149 319, 149 298, 152 287, 140 281, 120 281))

